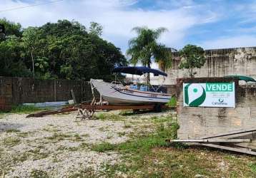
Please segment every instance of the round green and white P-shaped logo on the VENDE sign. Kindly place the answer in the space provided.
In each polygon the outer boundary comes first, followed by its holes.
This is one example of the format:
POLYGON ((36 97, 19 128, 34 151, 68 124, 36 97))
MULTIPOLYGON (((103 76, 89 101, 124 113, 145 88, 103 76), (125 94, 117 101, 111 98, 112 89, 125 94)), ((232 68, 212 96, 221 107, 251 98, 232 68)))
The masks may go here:
POLYGON ((188 84, 184 87, 184 102, 189 106, 197 107, 204 103, 206 98, 205 88, 202 87, 200 84, 188 84), (198 89, 202 88, 202 94, 198 95, 198 89), (189 90, 192 91, 189 96, 189 90), (193 95, 193 97, 192 97, 193 95), (194 97, 196 96, 196 97, 194 97), (192 99, 190 99, 192 98, 192 99))

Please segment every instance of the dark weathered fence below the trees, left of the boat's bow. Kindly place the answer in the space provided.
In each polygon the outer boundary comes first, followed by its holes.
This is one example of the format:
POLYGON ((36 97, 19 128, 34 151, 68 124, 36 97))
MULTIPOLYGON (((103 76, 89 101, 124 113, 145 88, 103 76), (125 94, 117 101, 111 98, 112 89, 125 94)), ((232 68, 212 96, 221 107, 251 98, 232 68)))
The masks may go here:
POLYGON ((0 110, 20 103, 41 103, 92 98, 89 82, 84 80, 37 80, 34 78, 0 77, 0 110))

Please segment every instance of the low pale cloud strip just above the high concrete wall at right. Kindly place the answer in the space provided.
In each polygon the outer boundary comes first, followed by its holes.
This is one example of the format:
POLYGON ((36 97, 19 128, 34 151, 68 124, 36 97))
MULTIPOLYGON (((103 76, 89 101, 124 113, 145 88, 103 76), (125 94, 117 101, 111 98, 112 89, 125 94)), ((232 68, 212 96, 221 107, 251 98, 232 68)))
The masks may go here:
POLYGON ((256 36, 221 37, 200 43, 205 49, 251 47, 256 45, 256 36))

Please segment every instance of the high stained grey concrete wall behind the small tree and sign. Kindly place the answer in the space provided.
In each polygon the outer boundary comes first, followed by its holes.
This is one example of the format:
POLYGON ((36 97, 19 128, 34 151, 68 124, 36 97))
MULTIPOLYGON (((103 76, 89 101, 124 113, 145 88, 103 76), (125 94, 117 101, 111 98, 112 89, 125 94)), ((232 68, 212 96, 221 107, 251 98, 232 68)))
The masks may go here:
MULTIPOLYGON (((206 50, 205 57, 205 66, 195 69, 196 78, 225 75, 247 75, 256 78, 256 47, 206 50)), ((165 85, 175 85, 177 78, 189 77, 187 69, 179 69, 179 61, 178 53, 173 53, 172 68, 167 70, 165 85)))

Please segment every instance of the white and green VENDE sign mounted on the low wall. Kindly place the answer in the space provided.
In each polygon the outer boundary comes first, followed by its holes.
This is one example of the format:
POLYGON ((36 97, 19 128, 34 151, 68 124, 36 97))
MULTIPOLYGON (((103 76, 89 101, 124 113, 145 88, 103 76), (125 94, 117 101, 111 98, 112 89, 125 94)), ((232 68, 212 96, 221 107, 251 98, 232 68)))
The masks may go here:
POLYGON ((235 108, 235 82, 183 83, 184 107, 235 108))

